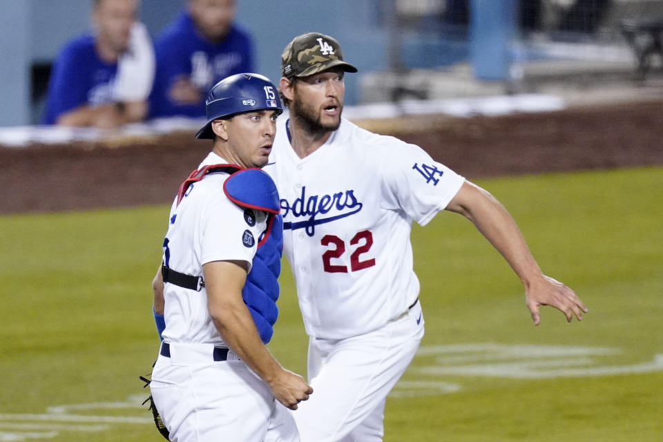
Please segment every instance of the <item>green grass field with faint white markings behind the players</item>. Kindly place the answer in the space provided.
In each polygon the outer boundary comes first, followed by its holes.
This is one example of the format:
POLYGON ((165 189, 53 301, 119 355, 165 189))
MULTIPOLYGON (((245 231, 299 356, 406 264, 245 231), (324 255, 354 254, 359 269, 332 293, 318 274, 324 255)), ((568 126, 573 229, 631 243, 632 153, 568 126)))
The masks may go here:
MULTIPOLYGON (((414 227, 426 336, 385 441, 662 441, 663 168, 477 181, 582 323, 544 308, 472 225, 414 227)), ((140 402, 166 206, 0 217, 0 441, 160 441, 140 402)), ((287 264, 271 350, 305 370, 287 264)), ((324 419, 324 416, 320 416, 324 419)))

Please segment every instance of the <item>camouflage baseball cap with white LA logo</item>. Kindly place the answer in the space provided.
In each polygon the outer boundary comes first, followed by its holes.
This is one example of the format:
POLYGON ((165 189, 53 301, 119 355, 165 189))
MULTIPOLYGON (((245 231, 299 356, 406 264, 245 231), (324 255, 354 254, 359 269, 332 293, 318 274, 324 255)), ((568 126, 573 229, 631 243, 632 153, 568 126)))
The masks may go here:
POLYGON ((298 35, 281 55, 281 75, 286 78, 306 77, 334 66, 340 66, 345 72, 357 72, 352 64, 343 61, 338 41, 318 32, 298 35))

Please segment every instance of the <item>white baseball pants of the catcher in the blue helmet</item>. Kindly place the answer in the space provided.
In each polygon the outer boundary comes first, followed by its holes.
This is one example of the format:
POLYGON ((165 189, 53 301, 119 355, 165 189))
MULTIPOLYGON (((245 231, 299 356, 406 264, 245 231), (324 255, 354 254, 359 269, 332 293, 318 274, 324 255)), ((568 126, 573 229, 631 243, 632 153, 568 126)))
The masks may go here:
POLYGON ((213 346, 171 344, 152 372, 154 403, 172 442, 298 442, 289 410, 240 359, 213 346))

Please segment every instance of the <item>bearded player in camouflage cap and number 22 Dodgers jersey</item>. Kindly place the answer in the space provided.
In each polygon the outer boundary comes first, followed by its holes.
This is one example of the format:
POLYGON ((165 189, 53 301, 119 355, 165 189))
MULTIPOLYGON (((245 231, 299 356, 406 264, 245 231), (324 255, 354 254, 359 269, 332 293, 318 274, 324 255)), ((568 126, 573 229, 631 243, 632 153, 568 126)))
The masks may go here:
POLYGON ((341 117, 343 78, 357 69, 336 39, 300 35, 281 61, 290 115, 279 122, 265 171, 278 187, 285 254, 309 335, 316 394, 294 414, 302 441, 382 440, 385 399, 424 333, 413 221, 423 226, 443 209, 461 213, 521 278, 535 324, 540 305, 582 318, 582 302, 541 273, 488 192, 419 146, 341 117))

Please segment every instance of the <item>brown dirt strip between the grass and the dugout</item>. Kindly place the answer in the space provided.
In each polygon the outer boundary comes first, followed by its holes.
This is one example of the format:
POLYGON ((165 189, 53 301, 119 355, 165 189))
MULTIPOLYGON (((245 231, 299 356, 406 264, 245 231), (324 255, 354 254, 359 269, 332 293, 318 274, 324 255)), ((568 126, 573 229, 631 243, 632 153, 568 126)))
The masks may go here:
MULTIPOLYGON (((419 144, 469 178, 663 164, 663 102, 358 124, 419 144)), ((117 144, 0 146, 0 214, 170 202, 210 148, 193 133, 117 144)))

